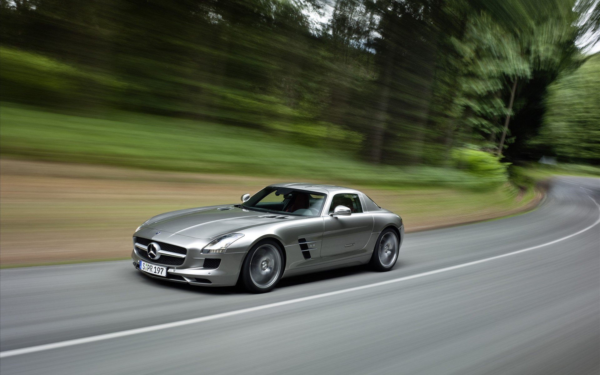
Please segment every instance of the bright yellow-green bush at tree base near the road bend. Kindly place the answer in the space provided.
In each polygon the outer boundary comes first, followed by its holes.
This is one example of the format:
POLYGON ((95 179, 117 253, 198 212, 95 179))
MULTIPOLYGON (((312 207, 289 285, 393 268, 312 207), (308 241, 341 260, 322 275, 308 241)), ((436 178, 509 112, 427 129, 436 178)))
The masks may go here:
POLYGON ((500 162, 500 158, 489 152, 476 149, 458 148, 452 151, 456 167, 466 169, 470 174, 481 178, 486 185, 502 184, 508 181, 510 163, 500 162))

